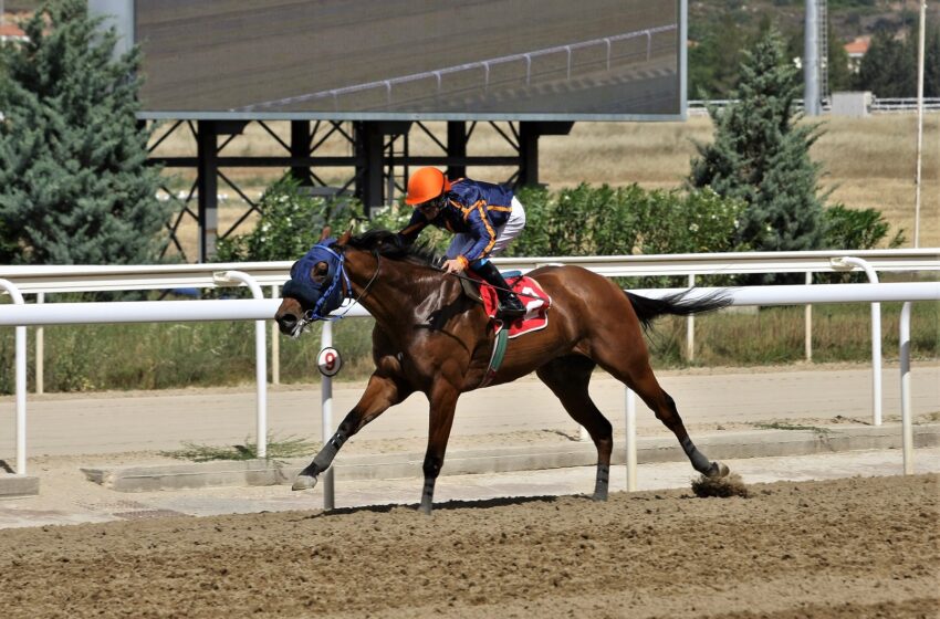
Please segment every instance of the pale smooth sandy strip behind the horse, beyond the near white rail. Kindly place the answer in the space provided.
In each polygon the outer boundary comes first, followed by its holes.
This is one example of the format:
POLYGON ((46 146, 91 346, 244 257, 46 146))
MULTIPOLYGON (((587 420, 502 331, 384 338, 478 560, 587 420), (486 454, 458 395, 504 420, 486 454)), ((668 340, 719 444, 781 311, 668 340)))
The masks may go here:
MULTIPOLYGON (((867 423, 871 419, 871 369, 865 365, 793 365, 773 368, 708 368, 658 373, 676 399, 694 439, 706 432, 754 429, 755 423, 867 423)), ((899 370, 882 367, 882 416, 899 419, 899 370)), ((940 364, 918 363, 911 370, 911 407, 918 417, 940 413, 940 364)), ((335 428, 364 391, 363 382, 333 386, 335 428)), ((624 386, 604 373, 592 379, 591 394, 623 436, 624 386)), ((278 438, 322 442, 320 385, 271 387, 269 432, 278 438)), ((428 432, 427 399, 412 395, 370 422, 343 453, 424 451, 428 432)), ((11 397, 0 398, 0 429, 13 428, 11 397)), ((254 439, 257 396, 253 386, 166 391, 111 391, 30 395, 27 405, 28 454, 108 454, 178 450, 186 441, 206 445, 243 444, 254 439)), ((929 419, 928 419, 929 420, 929 419)), ((936 419, 933 419, 936 420, 936 419)), ((637 406, 639 436, 668 436, 643 403, 637 406)), ((332 433, 332 430, 331 430, 332 433)), ((557 398, 530 376, 464 394, 458 401, 449 449, 488 444, 565 441, 576 423, 557 398)), ((0 460, 12 462, 13 442, 0 430, 0 460)), ((92 464, 94 462, 86 462, 92 464)), ((32 466, 30 471, 35 471, 32 466)))

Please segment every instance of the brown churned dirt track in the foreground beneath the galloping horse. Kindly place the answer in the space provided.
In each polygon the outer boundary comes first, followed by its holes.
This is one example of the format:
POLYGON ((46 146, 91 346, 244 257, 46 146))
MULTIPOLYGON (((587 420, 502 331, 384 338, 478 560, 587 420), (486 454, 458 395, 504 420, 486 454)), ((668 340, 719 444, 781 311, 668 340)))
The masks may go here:
POLYGON ((937 617, 940 475, 4 531, 14 617, 937 617))

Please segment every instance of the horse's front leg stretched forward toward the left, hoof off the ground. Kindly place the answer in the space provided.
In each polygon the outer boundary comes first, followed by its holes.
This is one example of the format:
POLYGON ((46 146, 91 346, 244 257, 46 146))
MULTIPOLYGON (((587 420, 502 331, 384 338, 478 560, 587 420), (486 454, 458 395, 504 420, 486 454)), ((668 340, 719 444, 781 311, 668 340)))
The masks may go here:
POLYGON ((411 392, 404 389, 394 379, 387 376, 373 374, 369 378, 366 392, 346 415, 336 433, 333 434, 320 453, 313 459, 306 469, 300 472, 294 480, 293 490, 310 490, 316 485, 316 476, 330 468, 340 448, 349 437, 363 429, 363 427, 385 412, 389 407, 397 405, 411 392))

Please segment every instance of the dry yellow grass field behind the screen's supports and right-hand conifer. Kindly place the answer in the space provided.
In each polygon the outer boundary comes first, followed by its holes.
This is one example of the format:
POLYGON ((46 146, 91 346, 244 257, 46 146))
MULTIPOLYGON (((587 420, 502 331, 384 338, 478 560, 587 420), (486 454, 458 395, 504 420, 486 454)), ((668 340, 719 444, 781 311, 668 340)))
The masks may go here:
MULTIPOLYGON (((913 244, 915 170, 917 118, 912 114, 871 116, 869 118, 824 117, 824 135, 814 145, 812 156, 823 165, 823 189, 832 191, 829 201, 850 208, 876 208, 894 227, 905 229, 913 244)), ((282 140, 289 141, 288 123, 268 125, 282 140)), ((427 123, 431 133, 446 140, 443 123, 427 123)), ((502 124, 501 126, 505 126, 502 124)), ((348 124, 344 125, 348 129, 348 124)), ((318 140, 325 135, 321 129, 318 140)), ((693 117, 685 123, 575 123, 568 136, 545 136, 540 140, 540 180, 550 187, 639 183, 645 188, 672 188, 681 185, 689 172, 696 149, 692 140, 708 143, 712 137, 711 120, 693 117)), ((420 130, 409 137, 412 155, 439 155, 440 149, 420 130)), ((512 155, 513 150, 489 124, 479 124, 468 145, 470 155, 512 155)), ((195 143, 188 132, 179 130, 159 148, 160 155, 194 155, 195 143)), ((284 149, 258 124, 249 125, 244 135, 234 138, 222 155, 283 155, 284 149)), ((333 136, 317 155, 351 155, 348 141, 333 136)), ((923 183, 921 188, 920 246, 940 245, 940 115, 930 114, 923 127, 923 183)), ((238 168, 223 170, 257 198, 280 170, 238 168)), ((314 170, 331 185, 345 183, 352 169, 314 170)), ((468 169, 468 176, 481 179, 509 178, 510 168, 468 169)), ((179 178, 176 187, 188 188, 192 170, 169 170, 179 178)), ((220 208, 220 231, 242 214, 243 202, 220 181, 219 190, 230 197, 220 208)), ((248 230, 249 220, 239 231, 248 230)), ((188 252, 195 253, 196 222, 188 220, 181 237, 188 252)), ((190 253, 190 255, 192 255, 190 253)))

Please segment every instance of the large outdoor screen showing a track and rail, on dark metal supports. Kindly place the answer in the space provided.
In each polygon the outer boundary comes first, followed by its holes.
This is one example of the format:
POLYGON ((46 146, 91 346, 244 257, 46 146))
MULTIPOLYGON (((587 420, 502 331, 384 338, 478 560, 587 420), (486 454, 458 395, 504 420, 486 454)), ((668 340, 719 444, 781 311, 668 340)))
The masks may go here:
POLYGON ((686 0, 136 0, 128 10, 146 118, 685 116, 686 0))

